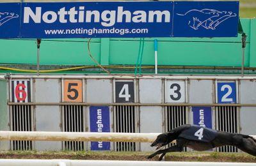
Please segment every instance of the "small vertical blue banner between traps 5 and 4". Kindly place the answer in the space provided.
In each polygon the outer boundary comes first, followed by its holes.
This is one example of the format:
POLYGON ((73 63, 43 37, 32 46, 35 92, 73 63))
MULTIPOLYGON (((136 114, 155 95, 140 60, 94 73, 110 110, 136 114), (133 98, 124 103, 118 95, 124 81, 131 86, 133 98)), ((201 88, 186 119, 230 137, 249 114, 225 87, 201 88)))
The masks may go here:
MULTIPOLYGON (((109 107, 90 107, 90 132, 110 132, 109 107)), ((92 151, 110 150, 110 142, 91 142, 92 151)))

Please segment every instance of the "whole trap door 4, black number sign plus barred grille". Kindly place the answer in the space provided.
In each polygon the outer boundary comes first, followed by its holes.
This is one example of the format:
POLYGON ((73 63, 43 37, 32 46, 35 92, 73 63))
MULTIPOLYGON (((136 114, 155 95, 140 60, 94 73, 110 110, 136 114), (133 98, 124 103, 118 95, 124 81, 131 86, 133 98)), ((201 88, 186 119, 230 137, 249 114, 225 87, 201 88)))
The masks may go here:
MULTIPOLYGON (((113 101, 115 103, 134 103, 137 100, 136 80, 114 80, 113 101)), ((113 132, 138 133, 139 107, 118 105, 113 107, 113 132)), ((138 142, 114 142, 115 151, 139 151, 138 142)))

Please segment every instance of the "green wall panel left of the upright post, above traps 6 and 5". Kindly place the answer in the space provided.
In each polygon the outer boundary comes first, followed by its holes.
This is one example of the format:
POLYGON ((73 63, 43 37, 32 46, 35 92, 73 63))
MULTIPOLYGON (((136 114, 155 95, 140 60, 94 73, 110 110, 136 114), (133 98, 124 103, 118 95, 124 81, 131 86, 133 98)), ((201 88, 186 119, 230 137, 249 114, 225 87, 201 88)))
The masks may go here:
MULTIPOLYGON (((36 40, 0 40, 0 63, 36 64, 36 40)), ((91 41, 93 57, 100 60, 100 43, 91 41)), ((40 64, 95 64, 88 56, 87 41, 43 40, 40 64)))

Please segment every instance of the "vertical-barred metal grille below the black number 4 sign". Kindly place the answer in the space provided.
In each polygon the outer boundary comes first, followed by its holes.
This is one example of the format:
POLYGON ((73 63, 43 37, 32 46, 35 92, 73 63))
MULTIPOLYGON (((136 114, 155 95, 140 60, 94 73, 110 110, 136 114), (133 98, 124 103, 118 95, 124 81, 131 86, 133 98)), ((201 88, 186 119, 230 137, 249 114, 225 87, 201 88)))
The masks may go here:
MULTIPOLYGON (((114 132, 135 133, 137 128, 136 107, 116 106, 114 107, 114 132)), ((136 151, 138 144, 135 142, 114 142, 115 151, 136 151)))

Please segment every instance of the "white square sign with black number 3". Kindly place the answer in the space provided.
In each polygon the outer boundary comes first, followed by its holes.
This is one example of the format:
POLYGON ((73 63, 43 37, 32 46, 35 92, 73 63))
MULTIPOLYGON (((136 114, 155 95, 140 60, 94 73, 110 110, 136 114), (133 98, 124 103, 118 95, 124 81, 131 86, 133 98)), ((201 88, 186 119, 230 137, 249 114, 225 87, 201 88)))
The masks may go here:
POLYGON ((165 102, 166 103, 184 103, 185 102, 185 81, 184 80, 166 80, 165 102))

